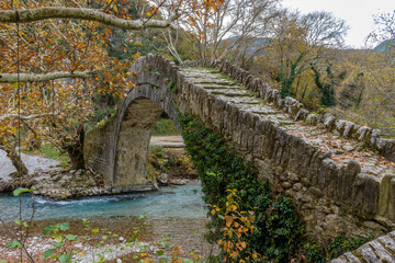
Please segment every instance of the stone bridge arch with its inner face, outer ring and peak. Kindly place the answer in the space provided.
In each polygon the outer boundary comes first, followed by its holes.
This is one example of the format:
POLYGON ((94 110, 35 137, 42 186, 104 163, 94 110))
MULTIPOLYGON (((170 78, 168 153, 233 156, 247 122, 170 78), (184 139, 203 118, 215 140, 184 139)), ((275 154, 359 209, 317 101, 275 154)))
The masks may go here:
POLYGON ((162 112, 181 132, 167 77, 150 71, 144 59, 137 60, 133 72, 136 88, 120 104, 114 126, 112 171, 106 180, 113 192, 155 188, 146 178, 146 163, 151 133, 162 112))

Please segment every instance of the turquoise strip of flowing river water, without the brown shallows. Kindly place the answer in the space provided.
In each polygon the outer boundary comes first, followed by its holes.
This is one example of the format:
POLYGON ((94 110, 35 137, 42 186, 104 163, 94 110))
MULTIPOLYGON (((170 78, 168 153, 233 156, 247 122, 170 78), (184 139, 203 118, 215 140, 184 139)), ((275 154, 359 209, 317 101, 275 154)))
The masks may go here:
MULTIPOLYGON (((33 199, 22 196, 23 218, 32 215, 33 199)), ((151 219, 205 218, 200 184, 179 187, 160 187, 158 192, 91 196, 79 199, 52 201, 36 196, 34 201, 36 220, 92 217, 131 217, 147 214, 151 219)), ((0 194, 0 218, 11 221, 19 218, 19 198, 12 194, 0 194)))

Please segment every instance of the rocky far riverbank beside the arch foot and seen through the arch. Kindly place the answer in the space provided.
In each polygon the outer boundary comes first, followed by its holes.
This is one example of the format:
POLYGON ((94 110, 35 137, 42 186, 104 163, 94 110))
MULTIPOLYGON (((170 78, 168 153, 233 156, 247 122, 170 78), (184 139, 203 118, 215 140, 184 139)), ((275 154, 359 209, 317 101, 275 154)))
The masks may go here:
MULTIPOLYGON (((184 185, 188 180, 198 179, 193 163, 183 149, 181 136, 153 137, 147 162, 147 179, 157 191, 158 185, 184 185)), ((0 193, 12 192, 16 187, 32 187, 34 194, 54 199, 117 194, 104 185, 100 174, 88 170, 69 170, 59 162, 42 156, 22 155, 30 174, 16 176, 14 168, 5 156, 0 156, 4 169, 0 171, 0 193), (13 172, 9 174, 10 172, 13 172)))

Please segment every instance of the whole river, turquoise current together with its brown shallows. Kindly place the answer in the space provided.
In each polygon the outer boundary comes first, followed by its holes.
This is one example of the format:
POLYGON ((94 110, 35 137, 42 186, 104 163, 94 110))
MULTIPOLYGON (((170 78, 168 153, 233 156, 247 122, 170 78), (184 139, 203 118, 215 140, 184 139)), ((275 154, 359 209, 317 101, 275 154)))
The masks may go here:
MULTIPOLYGON (((24 194, 24 220, 32 215, 32 197, 24 194)), ((71 233, 89 235, 90 230, 82 226, 81 220, 91 218, 92 228, 112 231, 125 239, 133 236, 134 230, 138 228, 139 240, 154 242, 171 233, 173 238, 170 242, 182 244, 185 251, 207 251, 211 248, 203 239, 206 232, 205 224, 208 222, 204 206, 199 183, 160 187, 158 192, 150 193, 91 196, 68 201, 36 196, 32 232, 40 233, 48 225, 69 221, 71 233), (145 215, 144 219, 140 215, 145 215)), ((0 194, 0 218, 8 222, 19 218, 19 197, 0 194)), ((0 235, 4 235, 1 227, 0 235)))

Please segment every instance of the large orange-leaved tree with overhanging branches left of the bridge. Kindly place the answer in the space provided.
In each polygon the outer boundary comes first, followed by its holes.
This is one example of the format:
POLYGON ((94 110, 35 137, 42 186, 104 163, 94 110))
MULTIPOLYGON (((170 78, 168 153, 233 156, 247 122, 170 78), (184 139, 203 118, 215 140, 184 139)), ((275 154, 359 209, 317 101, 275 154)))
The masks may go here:
MULTIPOLYGON (((106 39, 112 35, 109 26, 133 31, 166 28, 179 16, 178 1, 169 16, 159 12, 160 5, 140 1, 138 19, 128 13, 128 3, 1 0, 2 149, 15 151, 11 146, 21 134, 15 129, 21 123, 26 145, 49 140, 69 153, 72 168, 83 167, 83 133, 77 132, 81 132, 92 113, 92 95, 95 92, 120 95, 133 84, 126 81, 129 61, 108 56, 106 39)), ((137 1, 132 4, 137 5, 137 1)))

